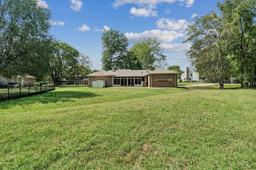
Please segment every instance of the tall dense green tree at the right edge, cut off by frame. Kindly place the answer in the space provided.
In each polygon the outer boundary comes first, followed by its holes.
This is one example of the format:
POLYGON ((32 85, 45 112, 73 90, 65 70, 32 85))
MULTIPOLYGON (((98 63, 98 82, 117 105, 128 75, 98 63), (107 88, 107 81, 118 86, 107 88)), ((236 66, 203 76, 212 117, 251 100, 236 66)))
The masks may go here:
POLYGON ((253 60, 253 50, 256 36, 255 17, 256 0, 225 0, 218 2, 221 11, 224 32, 228 35, 225 43, 232 60, 237 63, 237 70, 240 74, 241 88, 247 73, 250 73, 253 60))

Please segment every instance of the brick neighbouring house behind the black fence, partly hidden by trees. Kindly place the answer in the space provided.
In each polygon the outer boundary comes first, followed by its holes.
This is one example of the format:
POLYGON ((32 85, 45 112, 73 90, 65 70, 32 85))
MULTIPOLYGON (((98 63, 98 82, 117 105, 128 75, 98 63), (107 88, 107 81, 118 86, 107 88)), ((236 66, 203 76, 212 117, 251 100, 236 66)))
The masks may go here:
POLYGON ((5 78, 0 75, 0 86, 2 87, 4 84, 9 87, 14 87, 16 84, 26 84, 26 86, 34 86, 35 85, 35 77, 26 75, 26 76, 15 76, 12 78, 5 78))

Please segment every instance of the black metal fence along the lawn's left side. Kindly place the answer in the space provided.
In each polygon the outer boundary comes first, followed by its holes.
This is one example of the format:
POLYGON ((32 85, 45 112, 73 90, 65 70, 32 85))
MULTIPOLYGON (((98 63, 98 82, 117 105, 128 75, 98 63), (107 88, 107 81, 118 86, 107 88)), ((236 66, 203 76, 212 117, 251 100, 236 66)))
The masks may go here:
POLYGON ((28 86, 24 88, 1 88, 0 101, 22 98, 55 90, 54 85, 28 86))

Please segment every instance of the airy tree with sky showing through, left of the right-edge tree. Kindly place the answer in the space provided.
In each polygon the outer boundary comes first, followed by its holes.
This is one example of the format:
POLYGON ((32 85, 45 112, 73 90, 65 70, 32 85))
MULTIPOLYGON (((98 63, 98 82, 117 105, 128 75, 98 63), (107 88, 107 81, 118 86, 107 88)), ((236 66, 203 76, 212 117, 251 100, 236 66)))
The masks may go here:
POLYGON ((224 88, 224 80, 230 76, 230 61, 223 47, 226 34, 223 32, 222 18, 211 12, 196 18, 186 29, 186 41, 191 47, 186 52, 192 66, 200 75, 209 80, 217 80, 219 88, 224 88))

